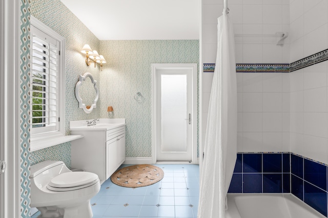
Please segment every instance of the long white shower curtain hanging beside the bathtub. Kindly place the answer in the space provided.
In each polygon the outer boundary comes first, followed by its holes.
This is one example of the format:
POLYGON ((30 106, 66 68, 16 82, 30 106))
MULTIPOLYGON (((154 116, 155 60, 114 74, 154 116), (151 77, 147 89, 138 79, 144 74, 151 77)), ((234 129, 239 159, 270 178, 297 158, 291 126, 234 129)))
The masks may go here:
POLYGON ((218 18, 216 65, 199 189, 198 218, 224 218, 237 158, 237 85, 233 25, 218 18))

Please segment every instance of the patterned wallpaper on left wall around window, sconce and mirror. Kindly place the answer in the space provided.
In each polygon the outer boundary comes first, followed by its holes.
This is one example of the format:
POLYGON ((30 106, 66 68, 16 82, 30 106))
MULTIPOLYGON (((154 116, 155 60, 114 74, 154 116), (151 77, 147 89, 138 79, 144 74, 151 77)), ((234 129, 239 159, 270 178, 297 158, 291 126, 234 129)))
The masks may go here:
MULTIPOLYGON (((92 65, 88 67, 85 63, 85 56, 80 52, 84 44, 89 44, 93 50, 99 51, 99 40, 59 0, 30 0, 30 11, 32 16, 65 38, 65 130, 68 135, 70 134, 70 120, 99 117, 98 107, 87 114, 83 109, 78 108, 78 102, 75 98, 75 84, 79 75, 90 72, 94 79, 99 81, 99 68, 94 68, 92 65)), ((70 142, 31 152, 31 157, 31 164, 51 159, 64 161, 70 167, 70 142)))

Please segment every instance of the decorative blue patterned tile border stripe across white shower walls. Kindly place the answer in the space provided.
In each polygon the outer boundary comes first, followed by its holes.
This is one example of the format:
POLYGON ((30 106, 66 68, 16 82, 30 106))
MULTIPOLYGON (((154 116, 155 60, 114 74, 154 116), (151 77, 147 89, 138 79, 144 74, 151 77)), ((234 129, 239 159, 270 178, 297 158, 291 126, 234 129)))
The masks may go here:
MULTIPOLYGON (((236 72, 292 72, 328 60, 328 49, 291 64, 236 64, 236 72)), ((215 63, 203 64, 203 72, 214 72, 215 63)))

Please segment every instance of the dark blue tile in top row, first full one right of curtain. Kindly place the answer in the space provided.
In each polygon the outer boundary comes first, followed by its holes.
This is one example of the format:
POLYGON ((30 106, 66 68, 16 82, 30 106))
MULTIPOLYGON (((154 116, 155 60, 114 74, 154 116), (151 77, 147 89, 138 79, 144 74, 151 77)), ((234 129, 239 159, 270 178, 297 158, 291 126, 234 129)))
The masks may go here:
POLYGON ((262 173, 262 154, 243 154, 243 173, 262 173))

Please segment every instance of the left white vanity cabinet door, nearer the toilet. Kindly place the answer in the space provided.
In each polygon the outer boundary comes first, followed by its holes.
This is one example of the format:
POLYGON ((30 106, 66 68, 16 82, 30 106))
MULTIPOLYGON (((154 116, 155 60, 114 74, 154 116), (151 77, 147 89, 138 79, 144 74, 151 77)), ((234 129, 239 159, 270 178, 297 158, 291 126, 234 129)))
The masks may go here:
POLYGON ((108 179, 117 168, 117 138, 106 143, 106 179, 108 179))

